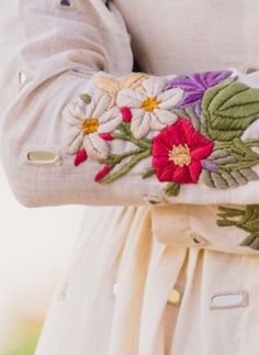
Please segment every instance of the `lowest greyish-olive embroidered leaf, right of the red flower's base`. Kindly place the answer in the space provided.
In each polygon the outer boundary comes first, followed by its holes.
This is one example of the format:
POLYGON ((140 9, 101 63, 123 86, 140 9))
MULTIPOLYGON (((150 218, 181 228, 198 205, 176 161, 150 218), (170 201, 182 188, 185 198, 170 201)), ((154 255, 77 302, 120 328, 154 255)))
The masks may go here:
POLYGON ((246 185, 248 181, 258 180, 259 176, 251 168, 240 168, 230 171, 218 170, 216 173, 203 169, 201 179, 209 187, 227 189, 246 185))

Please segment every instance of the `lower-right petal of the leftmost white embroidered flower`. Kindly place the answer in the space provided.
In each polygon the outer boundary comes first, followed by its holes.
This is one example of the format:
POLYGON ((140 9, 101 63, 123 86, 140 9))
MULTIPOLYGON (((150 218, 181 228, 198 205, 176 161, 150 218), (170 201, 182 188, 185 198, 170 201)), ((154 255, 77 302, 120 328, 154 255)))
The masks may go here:
POLYGON ((83 146, 88 156, 94 159, 105 159, 109 155, 109 143, 102 140, 97 133, 86 135, 83 146))

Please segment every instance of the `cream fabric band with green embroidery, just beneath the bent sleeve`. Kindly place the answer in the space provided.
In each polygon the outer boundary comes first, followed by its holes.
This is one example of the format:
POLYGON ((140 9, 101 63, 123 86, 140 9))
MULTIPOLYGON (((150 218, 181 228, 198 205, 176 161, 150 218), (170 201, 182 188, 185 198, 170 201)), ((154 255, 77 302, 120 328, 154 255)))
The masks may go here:
POLYGON ((216 204, 154 204, 151 207, 153 232, 160 243, 167 245, 235 254, 259 254, 257 232, 252 234, 247 226, 252 221, 257 221, 258 208, 256 207, 254 214, 251 212, 249 223, 241 223, 243 220, 245 221, 246 208, 240 206, 219 208, 216 204))

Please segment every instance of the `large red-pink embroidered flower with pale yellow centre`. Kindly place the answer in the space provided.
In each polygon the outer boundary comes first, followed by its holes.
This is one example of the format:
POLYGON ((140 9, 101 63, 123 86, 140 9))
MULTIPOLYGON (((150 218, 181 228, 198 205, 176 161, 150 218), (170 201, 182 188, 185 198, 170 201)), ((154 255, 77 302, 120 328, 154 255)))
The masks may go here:
POLYGON ((196 132, 192 123, 180 118, 153 138, 153 167, 159 181, 196 184, 202 159, 209 157, 214 142, 196 132))

